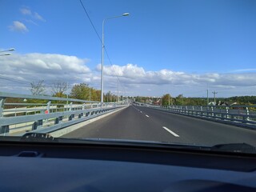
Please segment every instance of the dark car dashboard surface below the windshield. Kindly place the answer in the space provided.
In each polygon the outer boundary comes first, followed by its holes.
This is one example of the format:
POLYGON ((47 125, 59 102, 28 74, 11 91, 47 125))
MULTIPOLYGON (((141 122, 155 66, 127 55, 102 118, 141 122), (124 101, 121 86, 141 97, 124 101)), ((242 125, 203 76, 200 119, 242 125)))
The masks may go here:
POLYGON ((1 142, 0 191, 256 191, 255 155, 1 142))

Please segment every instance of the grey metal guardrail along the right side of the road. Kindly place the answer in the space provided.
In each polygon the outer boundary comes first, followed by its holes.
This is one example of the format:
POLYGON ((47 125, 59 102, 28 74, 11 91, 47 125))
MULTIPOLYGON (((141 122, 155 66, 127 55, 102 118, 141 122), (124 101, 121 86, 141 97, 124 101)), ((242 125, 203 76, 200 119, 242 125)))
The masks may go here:
POLYGON ((256 106, 148 106, 173 114, 184 114, 256 129, 256 106))

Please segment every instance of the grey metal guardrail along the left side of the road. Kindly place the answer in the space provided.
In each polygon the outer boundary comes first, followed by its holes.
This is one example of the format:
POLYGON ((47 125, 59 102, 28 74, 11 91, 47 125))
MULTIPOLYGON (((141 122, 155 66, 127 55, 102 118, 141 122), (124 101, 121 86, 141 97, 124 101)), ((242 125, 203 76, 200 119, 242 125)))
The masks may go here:
POLYGON ((100 106, 100 102, 73 98, 0 92, 0 135, 22 135, 27 132, 49 133, 117 110, 123 105, 111 102, 100 106), (44 100, 47 103, 6 103, 6 98, 32 98, 44 100), (52 104, 52 101, 66 103, 52 104), (22 107, 6 109, 6 106, 22 107))

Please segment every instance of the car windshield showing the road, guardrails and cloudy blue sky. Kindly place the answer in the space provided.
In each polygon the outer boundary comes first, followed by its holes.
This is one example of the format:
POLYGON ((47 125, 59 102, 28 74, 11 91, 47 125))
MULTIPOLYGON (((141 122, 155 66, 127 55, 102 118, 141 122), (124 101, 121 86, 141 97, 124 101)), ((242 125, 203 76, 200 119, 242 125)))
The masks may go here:
POLYGON ((1 139, 254 148, 255 8, 2 0, 1 139))

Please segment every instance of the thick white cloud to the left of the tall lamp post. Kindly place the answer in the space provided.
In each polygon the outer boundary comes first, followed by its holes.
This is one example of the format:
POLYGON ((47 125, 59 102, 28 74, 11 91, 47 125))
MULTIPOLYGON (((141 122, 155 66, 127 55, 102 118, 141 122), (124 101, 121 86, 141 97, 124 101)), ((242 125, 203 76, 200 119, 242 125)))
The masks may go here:
POLYGON ((57 81, 90 82, 92 74, 86 66, 88 61, 62 54, 12 54, 0 57, 0 75, 11 78, 9 83, 15 82, 12 79, 16 79, 16 83, 38 80, 44 80, 48 84, 57 81))

